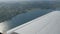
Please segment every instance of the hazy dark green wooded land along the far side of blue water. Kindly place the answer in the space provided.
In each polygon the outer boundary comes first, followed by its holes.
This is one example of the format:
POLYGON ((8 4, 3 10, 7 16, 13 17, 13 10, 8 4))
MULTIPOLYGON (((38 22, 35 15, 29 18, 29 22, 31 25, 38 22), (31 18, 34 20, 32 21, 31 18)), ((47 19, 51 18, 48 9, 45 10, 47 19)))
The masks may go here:
POLYGON ((57 2, 54 2, 54 3, 49 3, 49 2, 0 3, 0 22, 9 20, 18 14, 26 13, 28 12, 27 10, 31 10, 34 8, 55 10, 56 7, 60 7, 60 4, 57 2))

